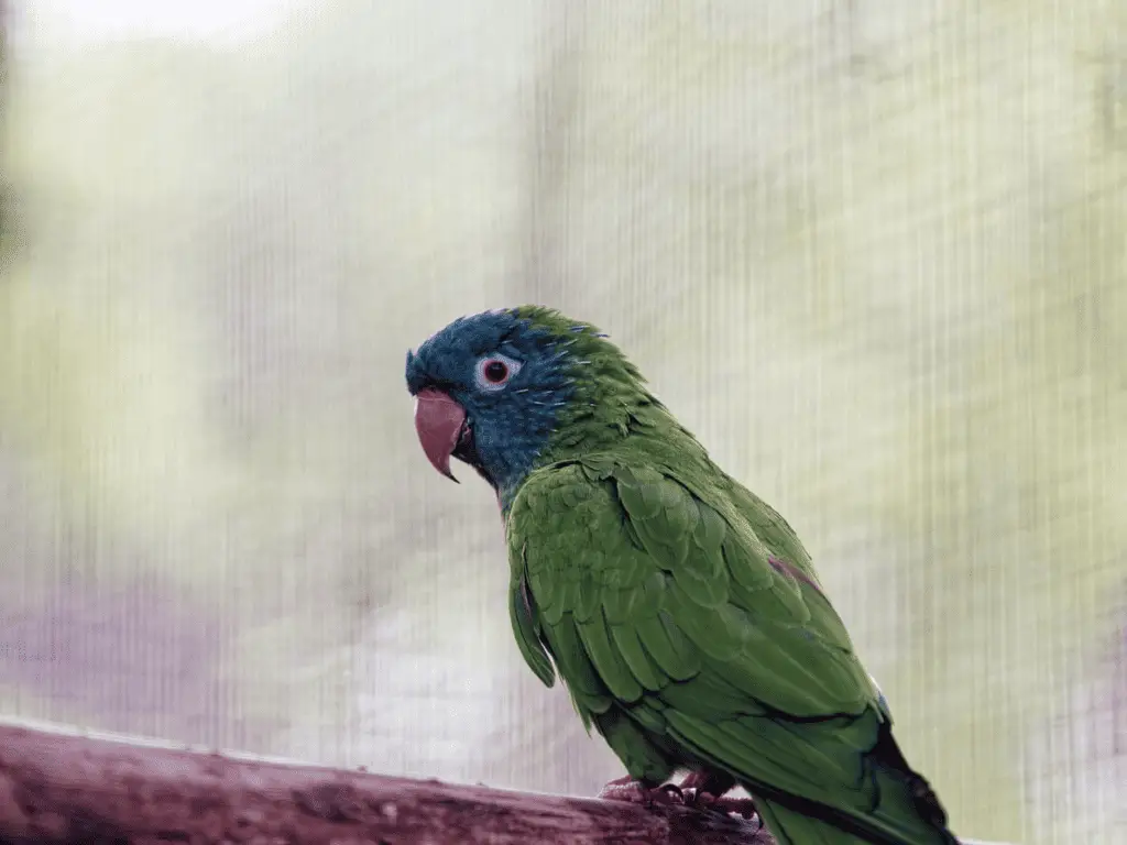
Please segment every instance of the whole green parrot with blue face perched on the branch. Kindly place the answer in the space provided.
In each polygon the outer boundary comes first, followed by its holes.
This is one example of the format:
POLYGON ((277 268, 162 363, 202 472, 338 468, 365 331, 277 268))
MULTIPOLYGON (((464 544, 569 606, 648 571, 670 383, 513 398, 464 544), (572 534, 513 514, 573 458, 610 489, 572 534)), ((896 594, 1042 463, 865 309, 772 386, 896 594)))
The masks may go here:
POLYGON ((406 381, 434 469, 494 489, 524 661, 622 782, 742 786, 780 845, 958 845, 795 531, 607 335, 485 311, 409 349, 406 381))

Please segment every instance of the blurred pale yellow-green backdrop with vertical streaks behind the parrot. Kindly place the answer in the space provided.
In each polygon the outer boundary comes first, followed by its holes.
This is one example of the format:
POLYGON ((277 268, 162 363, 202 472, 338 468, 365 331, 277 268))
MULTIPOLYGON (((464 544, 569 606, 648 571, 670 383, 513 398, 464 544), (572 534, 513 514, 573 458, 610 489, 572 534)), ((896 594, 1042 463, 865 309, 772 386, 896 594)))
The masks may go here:
POLYGON ((958 831, 1127 843, 1121 0, 8 2, 0 713, 621 774, 402 384, 535 301, 788 516, 958 831))

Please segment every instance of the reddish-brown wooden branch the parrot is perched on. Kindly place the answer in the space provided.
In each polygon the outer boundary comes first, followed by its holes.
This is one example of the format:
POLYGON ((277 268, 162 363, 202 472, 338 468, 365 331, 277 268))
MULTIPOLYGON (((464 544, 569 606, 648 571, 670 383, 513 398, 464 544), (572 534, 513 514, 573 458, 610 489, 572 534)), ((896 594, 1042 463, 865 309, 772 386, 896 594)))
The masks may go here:
POLYGON ((0 726, 0 843, 769 845, 684 807, 383 777, 73 729, 0 726))

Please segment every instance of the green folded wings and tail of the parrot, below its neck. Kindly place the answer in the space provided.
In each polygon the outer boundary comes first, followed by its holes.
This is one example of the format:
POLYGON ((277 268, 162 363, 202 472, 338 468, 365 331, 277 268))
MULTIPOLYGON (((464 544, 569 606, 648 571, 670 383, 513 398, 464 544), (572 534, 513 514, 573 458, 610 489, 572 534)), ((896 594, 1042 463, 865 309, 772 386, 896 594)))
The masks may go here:
MULTIPOLYGON (((550 655, 636 777, 702 763, 875 842, 955 842, 876 768, 887 711, 790 526, 719 470, 629 457, 538 470, 508 514, 514 632, 536 675, 551 684, 550 655)), ((769 807, 780 827, 788 813, 769 807)))

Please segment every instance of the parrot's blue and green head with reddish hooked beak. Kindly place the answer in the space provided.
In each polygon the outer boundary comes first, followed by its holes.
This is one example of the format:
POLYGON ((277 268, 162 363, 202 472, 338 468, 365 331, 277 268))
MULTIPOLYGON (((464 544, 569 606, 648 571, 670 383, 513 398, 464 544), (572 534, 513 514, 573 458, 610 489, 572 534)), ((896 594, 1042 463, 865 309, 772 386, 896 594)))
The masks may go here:
POLYGON ((575 445, 577 424, 594 422, 583 436, 605 434, 605 400, 648 395, 641 384, 605 335, 536 305, 463 317, 407 353, 427 459, 451 479, 451 455, 464 461, 503 497, 575 445))

